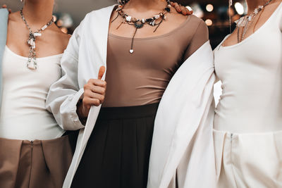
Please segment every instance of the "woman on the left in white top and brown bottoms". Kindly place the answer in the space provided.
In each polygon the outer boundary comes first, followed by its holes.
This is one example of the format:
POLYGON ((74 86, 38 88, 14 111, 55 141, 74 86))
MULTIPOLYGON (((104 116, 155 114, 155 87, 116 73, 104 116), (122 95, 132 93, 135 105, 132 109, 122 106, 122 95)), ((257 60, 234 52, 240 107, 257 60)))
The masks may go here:
POLYGON ((16 13, 0 10, 0 187, 61 188, 71 164, 77 135, 45 107, 70 38, 54 24, 53 6, 25 0, 16 13))

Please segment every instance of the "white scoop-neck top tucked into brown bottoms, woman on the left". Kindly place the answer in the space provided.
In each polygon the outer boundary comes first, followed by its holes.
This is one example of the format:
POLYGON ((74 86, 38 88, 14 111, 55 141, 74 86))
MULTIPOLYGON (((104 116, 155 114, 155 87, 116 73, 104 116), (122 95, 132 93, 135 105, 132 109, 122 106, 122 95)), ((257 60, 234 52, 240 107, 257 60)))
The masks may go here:
POLYGON ((45 108, 51 84, 61 77, 62 54, 37 58, 37 70, 27 68, 27 58, 8 47, 3 57, 3 95, 0 137, 6 139, 54 139, 63 130, 45 108))

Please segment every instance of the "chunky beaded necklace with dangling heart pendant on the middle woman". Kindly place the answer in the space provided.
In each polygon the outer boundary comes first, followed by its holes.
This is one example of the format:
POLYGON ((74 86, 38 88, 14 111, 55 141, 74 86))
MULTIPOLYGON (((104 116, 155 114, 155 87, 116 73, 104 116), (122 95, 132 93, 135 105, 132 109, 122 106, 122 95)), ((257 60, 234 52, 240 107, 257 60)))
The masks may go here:
MULTIPOLYGON (((133 25, 135 27, 135 32, 134 32, 133 38, 131 39, 131 47, 130 47, 130 50, 129 50, 130 54, 133 54, 133 52, 134 52, 133 42, 134 42, 134 38, 135 38, 137 30, 141 29, 145 24, 147 24, 147 25, 150 25, 152 27, 156 27, 156 29, 154 30, 154 32, 156 32, 159 25, 161 25, 161 23, 164 20, 166 20, 166 13, 171 12, 171 1, 166 0, 167 6, 166 6, 166 8, 164 8, 163 12, 161 12, 157 15, 154 15, 151 18, 142 18, 142 19, 134 18, 134 17, 128 15, 127 13, 125 13, 123 11, 123 6, 128 1, 129 0, 118 0, 118 8, 116 8, 116 12, 118 12, 118 15, 116 16, 116 18, 114 18, 114 20, 116 20, 118 18, 118 16, 121 16, 123 18, 123 21, 121 22, 120 25, 118 25, 116 30, 118 30, 118 28, 121 27, 121 25, 123 23, 127 23, 128 25, 133 25)), ((111 23, 113 23, 114 20, 112 20, 111 23)))

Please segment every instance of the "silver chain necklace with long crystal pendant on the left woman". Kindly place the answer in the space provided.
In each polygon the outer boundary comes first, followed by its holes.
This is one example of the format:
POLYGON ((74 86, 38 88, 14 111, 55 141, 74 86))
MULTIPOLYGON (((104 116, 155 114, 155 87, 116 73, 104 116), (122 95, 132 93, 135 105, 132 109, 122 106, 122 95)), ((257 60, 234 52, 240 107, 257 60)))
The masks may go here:
POLYGON ((27 24, 27 21, 25 20, 25 16, 23 15, 23 8, 20 9, 20 15, 23 19, 23 22, 27 26, 27 29, 30 31, 30 35, 27 39, 27 44, 30 46, 30 51, 27 60, 27 68, 29 68, 30 70, 36 70, 37 69, 37 60, 36 60, 36 52, 35 52, 36 37, 40 37, 42 35, 41 32, 46 30, 47 27, 49 27, 52 23, 54 23, 54 18, 52 16, 49 23, 41 27, 41 29, 32 32, 30 25, 27 24))

